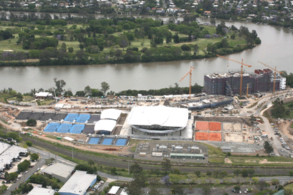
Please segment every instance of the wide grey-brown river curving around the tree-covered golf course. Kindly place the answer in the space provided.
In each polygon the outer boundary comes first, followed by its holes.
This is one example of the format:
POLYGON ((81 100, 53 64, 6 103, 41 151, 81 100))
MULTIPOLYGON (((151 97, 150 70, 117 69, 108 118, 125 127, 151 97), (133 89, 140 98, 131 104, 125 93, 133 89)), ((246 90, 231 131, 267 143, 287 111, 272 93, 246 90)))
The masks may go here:
MULTIPOLYGON (((165 18, 166 19, 166 18, 165 18)), ((179 19, 180 20, 180 19, 179 19)), ((182 19, 181 19, 182 20, 182 19)), ((199 19, 200 22, 209 22, 209 19, 199 19)), ((216 20, 219 23, 221 20, 216 20)), ((292 43, 293 32, 287 28, 271 25, 247 23, 245 21, 225 21, 226 25, 235 25, 239 28, 246 26, 249 30, 256 30, 261 38, 261 45, 252 50, 245 50, 237 54, 228 55, 228 58, 241 61, 252 68, 245 67, 247 72, 254 69, 266 68, 258 61, 266 63, 277 70, 293 72, 292 43)), ((194 42, 196 43, 196 42, 194 42)), ((101 82, 109 83, 110 90, 120 92, 121 90, 149 90, 168 88, 188 72, 190 66, 194 67, 192 72, 192 84, 203 85, 204 74, 213 72, 227 72, 240 68, 239 63, 227 61, 219 57, 212 59, 172 61, 157 63, 126 63, 105 65, 68 65, 47 67, 4 67, 0 68, 0 89, 12 88, 17 92, 30 92, 31 89, 54 87, 54 77, 66 82, 65 89, 76 92, 83 90, 85 86, 100 88, 101 82)), ((188 86, 189 78, 186 77, 179 86, 188 86)))

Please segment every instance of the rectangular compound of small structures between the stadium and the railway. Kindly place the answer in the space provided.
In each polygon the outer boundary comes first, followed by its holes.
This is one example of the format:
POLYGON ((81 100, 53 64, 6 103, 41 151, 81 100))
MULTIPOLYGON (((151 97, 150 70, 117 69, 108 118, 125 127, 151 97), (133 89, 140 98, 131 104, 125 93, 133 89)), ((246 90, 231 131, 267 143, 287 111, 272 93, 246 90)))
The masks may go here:
POLYGON ((148 161, 208 163, 208 147, 201 143, 150 141, 137 145, 134 158, 148 161))

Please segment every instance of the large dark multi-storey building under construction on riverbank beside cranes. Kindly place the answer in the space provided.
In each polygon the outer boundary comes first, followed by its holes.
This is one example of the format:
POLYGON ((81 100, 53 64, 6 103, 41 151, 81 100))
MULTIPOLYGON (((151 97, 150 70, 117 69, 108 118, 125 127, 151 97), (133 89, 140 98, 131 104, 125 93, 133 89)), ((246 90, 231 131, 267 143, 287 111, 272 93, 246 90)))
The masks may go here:
MULTIPOLYGON (((221 94, 233 96, 239 94, 241 72, 205 74, 203 92, 207 94, 221 94)), ((285 89, 286 79, 280 74, 276 76, 275 90, 285 89)), ((270 92, 274 87, 274 72, 270 69, 254 70, 254 73, 243 72, 242 94, 256 92, 270 92)))

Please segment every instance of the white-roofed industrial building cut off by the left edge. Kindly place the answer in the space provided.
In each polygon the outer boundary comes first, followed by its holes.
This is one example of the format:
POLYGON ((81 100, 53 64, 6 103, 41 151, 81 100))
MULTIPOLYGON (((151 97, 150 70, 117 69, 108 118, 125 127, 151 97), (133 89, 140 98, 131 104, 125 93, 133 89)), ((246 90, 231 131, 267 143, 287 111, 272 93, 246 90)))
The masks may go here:
POLYGON ((8 168, 13 161, 19 158, 19 155, 25 156, 28 150, 17 145, 10 146, 7 143, 0 142, 0 171, 8 168))

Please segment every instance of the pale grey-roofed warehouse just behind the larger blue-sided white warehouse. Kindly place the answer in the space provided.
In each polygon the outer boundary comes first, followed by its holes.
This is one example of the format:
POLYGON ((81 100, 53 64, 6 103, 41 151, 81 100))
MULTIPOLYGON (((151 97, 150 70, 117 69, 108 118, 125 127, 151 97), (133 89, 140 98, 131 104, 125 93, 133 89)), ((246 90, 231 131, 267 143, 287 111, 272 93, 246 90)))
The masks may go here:
POLYGON ((62 183, 68 181, 73 171, 73 166, 64 165, 62 163, 55 163, 42 170, 43 174, 49 174, 53 178, 59 179, 62 183))

